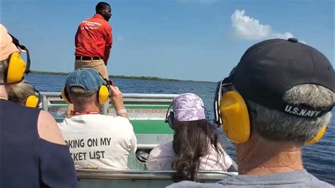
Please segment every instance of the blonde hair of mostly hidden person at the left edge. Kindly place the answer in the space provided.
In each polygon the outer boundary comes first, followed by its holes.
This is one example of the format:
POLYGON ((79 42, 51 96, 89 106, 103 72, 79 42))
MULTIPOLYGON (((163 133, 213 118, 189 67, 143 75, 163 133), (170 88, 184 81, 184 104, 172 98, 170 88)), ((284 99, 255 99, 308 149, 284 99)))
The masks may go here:
POLYGON ((25 101, 30 95, 36 95, 35 89, 28 81, 23 80, 20 83, 11 85, 8 100, 20 105, 25 105, 25 101))

